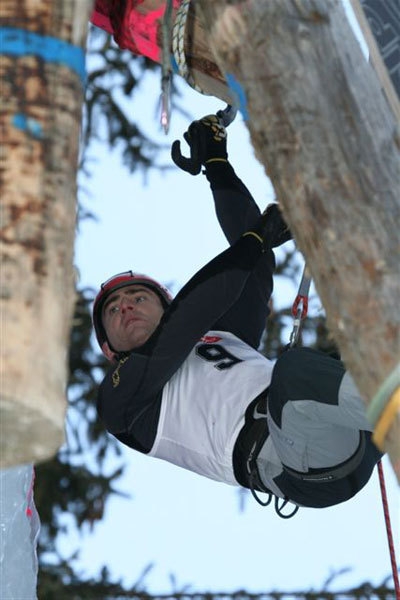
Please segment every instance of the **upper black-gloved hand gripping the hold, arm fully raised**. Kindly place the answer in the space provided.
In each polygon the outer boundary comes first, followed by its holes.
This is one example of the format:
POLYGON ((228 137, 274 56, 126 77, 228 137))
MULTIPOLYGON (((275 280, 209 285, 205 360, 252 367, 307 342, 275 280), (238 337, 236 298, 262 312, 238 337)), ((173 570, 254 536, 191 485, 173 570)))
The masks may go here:
POLYGON ((193 121, 183 134, 190 148, 190 158, 181 153, 181 144, 175 140, 171 147, 174 163, 191 175, 198 175, 201 165, 215 160, 226 161, 226 129, 216 115, 207 115, 200 121, 193 121))

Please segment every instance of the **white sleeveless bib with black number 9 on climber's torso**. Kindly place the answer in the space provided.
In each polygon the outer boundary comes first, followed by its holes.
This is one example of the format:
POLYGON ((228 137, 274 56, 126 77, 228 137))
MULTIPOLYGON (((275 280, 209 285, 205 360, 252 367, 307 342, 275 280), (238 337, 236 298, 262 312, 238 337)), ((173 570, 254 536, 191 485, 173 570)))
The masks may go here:
POLYGON ((233 448, 244 414, 271 381, 273 363, 225 331, 209 331, 163 390, 150 456, 238 485, 233 448))

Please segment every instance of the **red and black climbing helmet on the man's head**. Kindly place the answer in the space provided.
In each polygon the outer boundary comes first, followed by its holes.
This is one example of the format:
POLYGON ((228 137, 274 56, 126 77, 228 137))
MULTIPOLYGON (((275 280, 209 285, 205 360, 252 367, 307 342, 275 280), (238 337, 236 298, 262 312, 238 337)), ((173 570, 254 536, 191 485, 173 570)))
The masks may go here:
POLYGON ((171 304, 173 297, 170 291, 161 285, 161 283, 158 283, 158 281, 151 279, 151 277, 148 277, 147 275, 143 275, 143 273, 125 271, 124 273, 118 273, 118 275, 110 277, 110 279, 107 279, 107 281, 101 284, 100 291, 97 294, 93 304, 93 325, 100 348, 103 346, 104 342, 108 341, 101 316, 105 300, 108 298, 111 292, 115 292, 115 290, 136 283, 141 283, 142 285, 153 290, 153 292, 156 292, 156 294, 158 294, 160 297, 164 308, 171 304))

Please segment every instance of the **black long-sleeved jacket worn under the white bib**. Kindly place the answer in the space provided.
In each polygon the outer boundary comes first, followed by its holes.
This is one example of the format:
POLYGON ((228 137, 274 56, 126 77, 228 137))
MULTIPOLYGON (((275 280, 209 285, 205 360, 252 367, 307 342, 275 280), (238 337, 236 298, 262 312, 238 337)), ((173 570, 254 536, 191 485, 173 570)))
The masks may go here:
POLYGON ((231 247, 190 279, 150 339, 112 368, 99 389, 106 429, 144 453, 155 439, 163 387, 201 336, 229 331, 258 348, 269 314, 274 255, 255 237, 241 237, 257 222, 259 208, 229 163, 211 163, 206 175, 231 247), (120 383, 114 387, 116 369, 120 383))

